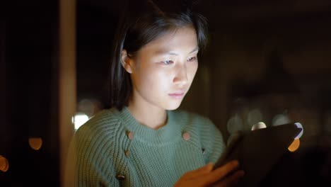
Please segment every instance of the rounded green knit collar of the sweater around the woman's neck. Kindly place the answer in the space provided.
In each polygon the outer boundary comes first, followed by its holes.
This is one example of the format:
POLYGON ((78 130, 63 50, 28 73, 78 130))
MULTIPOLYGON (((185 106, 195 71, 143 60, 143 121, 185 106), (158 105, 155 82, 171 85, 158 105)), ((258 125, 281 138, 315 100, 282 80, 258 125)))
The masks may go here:
POLYGON ((148 145, 169 144, 180 139, 182 135, 182 124, 178 123, 173 111, 167 111, 167 123, 157 130, 141 125, 127 107, 119 111, 119 117, 127 131, 134 132, 134 140, 148 145))

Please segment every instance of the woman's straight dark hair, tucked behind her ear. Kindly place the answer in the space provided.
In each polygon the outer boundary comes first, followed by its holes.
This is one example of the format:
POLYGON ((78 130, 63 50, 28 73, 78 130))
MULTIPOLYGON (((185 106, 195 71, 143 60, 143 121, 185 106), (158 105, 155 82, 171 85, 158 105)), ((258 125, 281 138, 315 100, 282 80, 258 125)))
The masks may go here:
POLYGON ((130 75, 121 64, 123 49, 127 50, 129 57, 134 57, 144 45, 182 27, 192 27, 196 30, 199 50, 203 50, 207 44, 207 21, 202 15, 188 8, 175 12, 161 11, 156 4, 148 0, 144 1, 143 5, 141 1, 136 2, 139 4, 134 4, 132 1, 133 4, 128 6, 129 10, 122 16, 112 44, 108 89, 110 107, 116 107, 119 110, 128 106, 129 98, 132 96, 130 75))

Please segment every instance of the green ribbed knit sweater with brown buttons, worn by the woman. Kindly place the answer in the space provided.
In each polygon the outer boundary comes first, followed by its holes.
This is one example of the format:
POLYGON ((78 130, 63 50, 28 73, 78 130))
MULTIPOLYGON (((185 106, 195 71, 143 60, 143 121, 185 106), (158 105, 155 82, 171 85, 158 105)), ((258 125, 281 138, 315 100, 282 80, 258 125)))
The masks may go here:
POLYGON ((81 126, 69 156, 75 186, 173 186, 180 176, 224 149, 221 133, 207 118, 168 111, 166 125, 141 125, 127 108, 105 110, 81 126), (73 154, 73 150, 75 154, 73 154))

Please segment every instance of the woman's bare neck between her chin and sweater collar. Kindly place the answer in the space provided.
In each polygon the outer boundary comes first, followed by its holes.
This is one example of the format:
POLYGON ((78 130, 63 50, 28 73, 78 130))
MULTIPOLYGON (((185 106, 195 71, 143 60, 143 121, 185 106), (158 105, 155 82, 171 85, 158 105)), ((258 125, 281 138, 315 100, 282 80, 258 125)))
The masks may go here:
POLYGON ((155 130, 161 128, 167 121, 165 109, 151 106, 151 104, 130 101, 127 108, 141 125, 155 130))

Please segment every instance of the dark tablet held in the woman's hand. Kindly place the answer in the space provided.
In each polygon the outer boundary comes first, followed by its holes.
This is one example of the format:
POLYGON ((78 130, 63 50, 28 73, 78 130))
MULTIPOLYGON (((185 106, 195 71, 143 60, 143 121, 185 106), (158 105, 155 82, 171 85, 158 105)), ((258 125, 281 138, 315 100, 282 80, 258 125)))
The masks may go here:
POLYGON ((226 162, 238 160, 245 176, 238 186, 257 186, 274 164, 288 151, 289 145, 303 132, 300 123, 288 123, 252 131, 238 131, 216 162, 216 169, 226 162))

